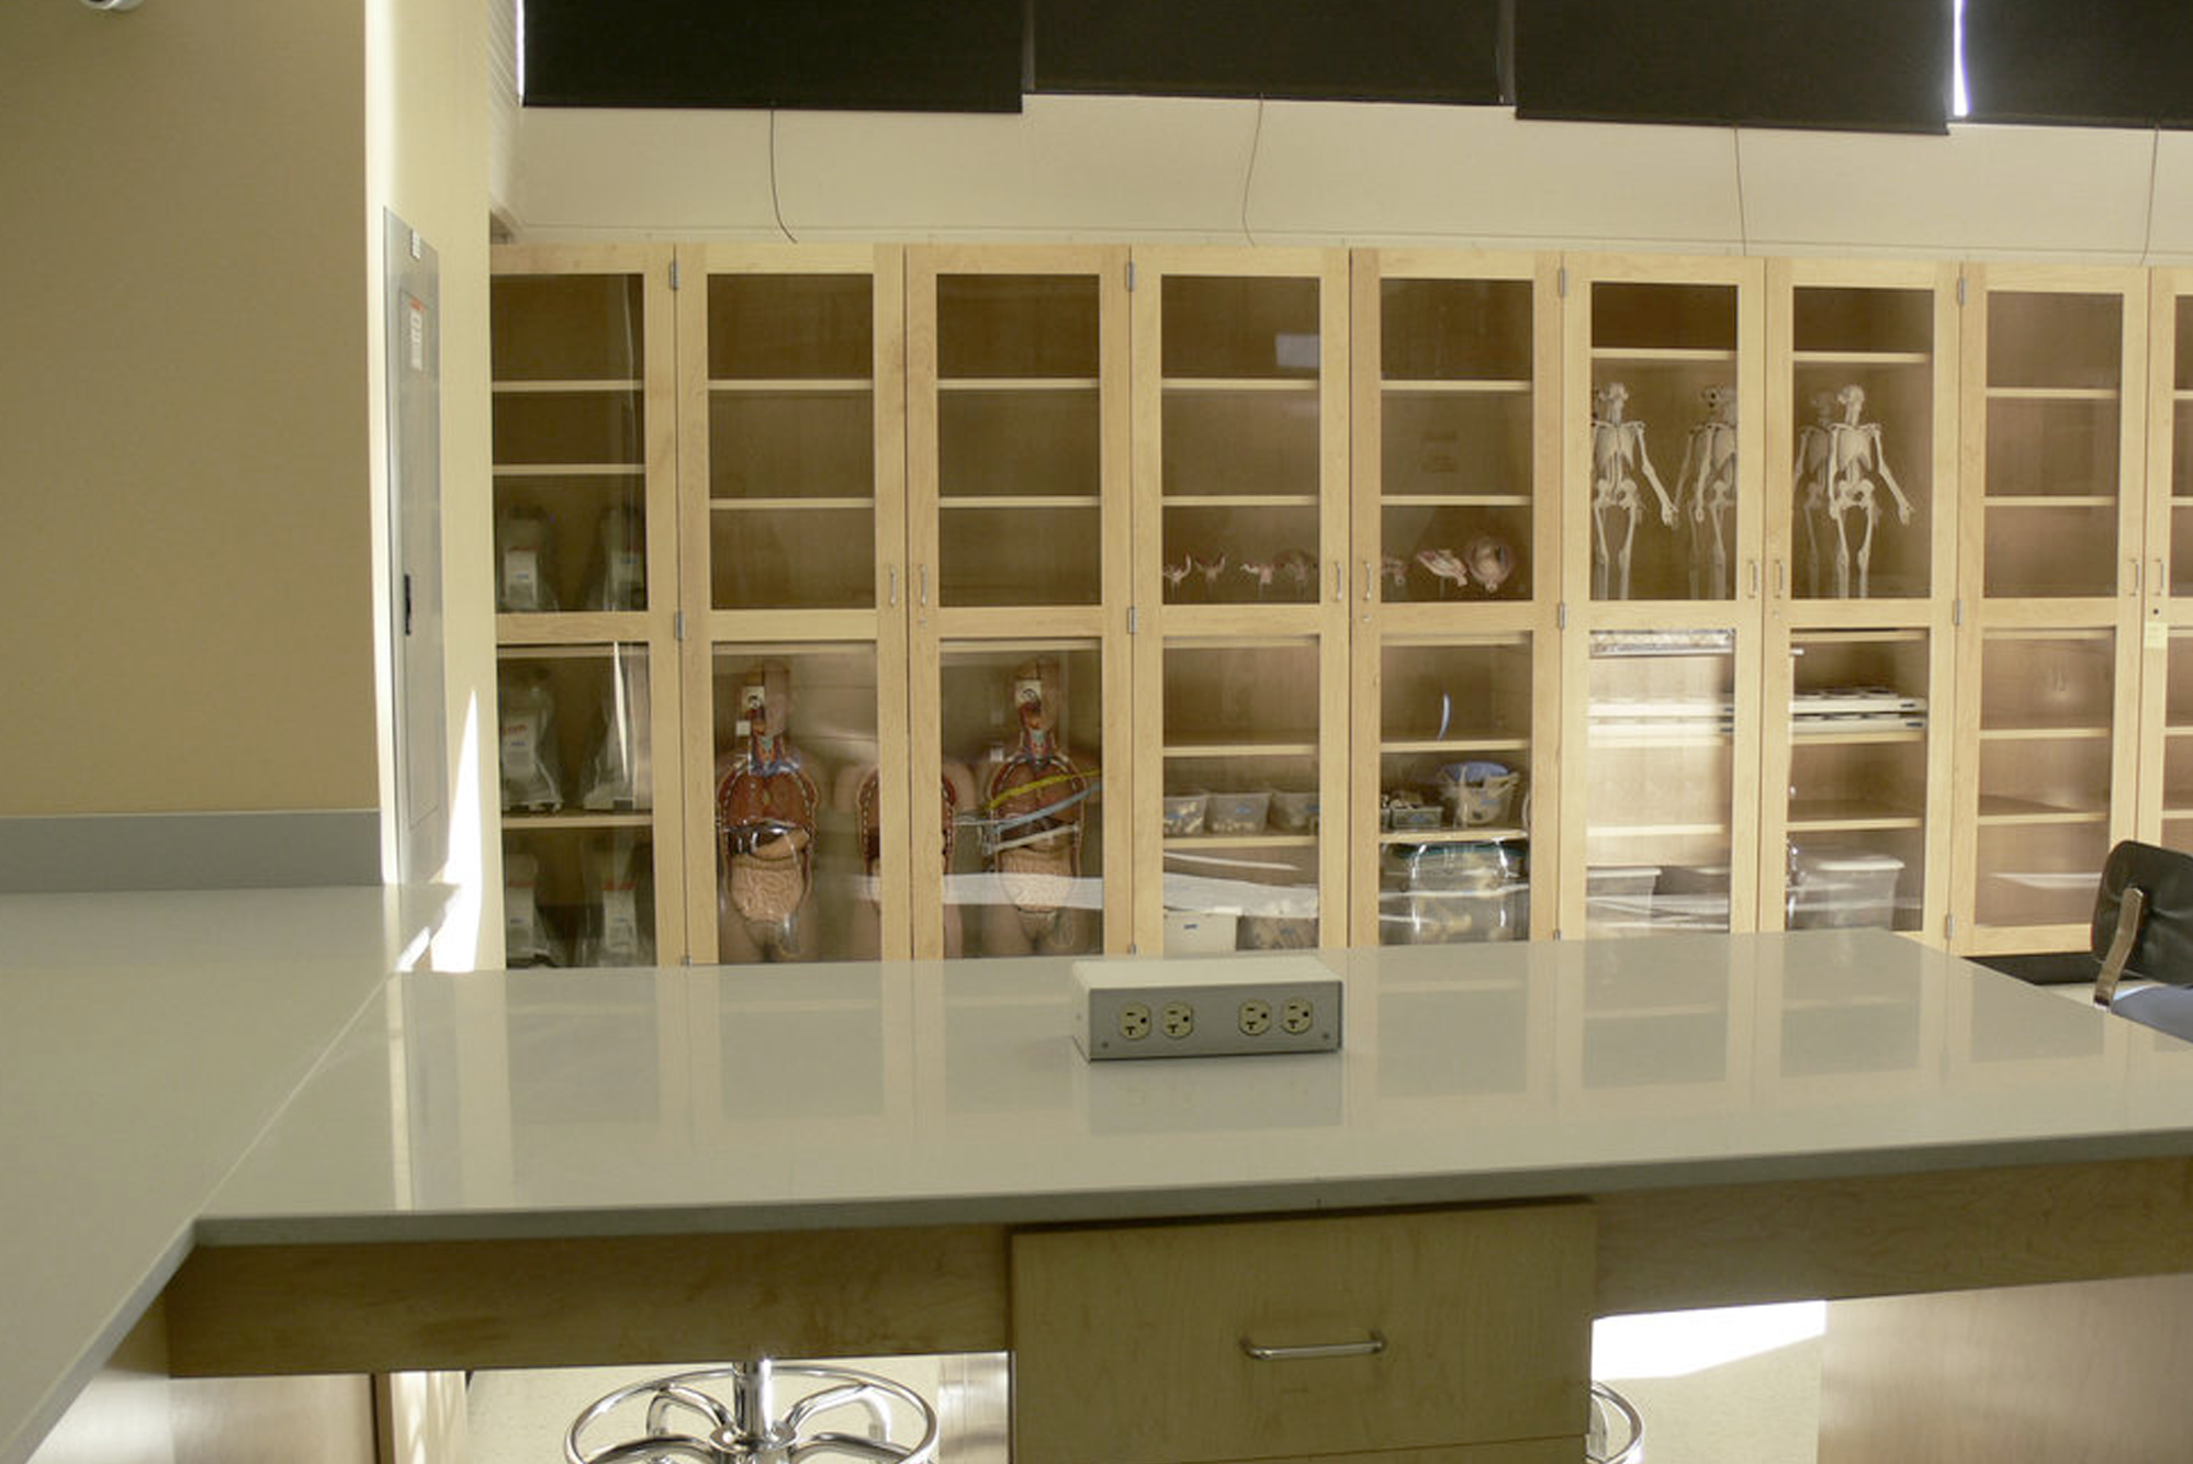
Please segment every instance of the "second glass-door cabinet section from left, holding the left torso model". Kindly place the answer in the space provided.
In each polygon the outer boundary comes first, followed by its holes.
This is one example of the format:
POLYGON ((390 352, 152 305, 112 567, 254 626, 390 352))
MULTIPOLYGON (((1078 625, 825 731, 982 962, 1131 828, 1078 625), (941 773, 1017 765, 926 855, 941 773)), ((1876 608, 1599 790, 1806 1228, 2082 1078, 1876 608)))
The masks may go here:
POLYGON ((901 252, 678 261, 689 940, 904 958, 901 252))

